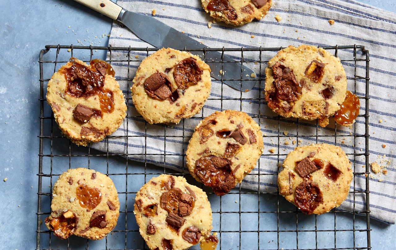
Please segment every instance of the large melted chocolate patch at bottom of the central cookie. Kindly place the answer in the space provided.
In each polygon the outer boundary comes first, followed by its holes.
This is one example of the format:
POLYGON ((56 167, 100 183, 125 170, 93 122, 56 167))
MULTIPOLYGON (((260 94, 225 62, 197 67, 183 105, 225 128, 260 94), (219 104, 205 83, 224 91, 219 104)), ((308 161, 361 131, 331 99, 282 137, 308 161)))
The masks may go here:
POLYGON ((216 195, 225 195, 235 187, 230 160, 211 155, 199 158, 195 166, 194 174, 204 185, 213 188, 216 195))

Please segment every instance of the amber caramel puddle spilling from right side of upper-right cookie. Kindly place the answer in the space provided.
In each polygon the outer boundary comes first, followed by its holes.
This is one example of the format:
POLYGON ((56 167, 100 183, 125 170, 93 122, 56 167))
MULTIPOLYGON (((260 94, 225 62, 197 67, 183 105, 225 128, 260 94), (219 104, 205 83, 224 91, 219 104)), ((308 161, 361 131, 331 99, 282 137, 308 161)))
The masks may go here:
POLYGON ((340 105, 340 109, 335 112, 334 120, 341 125, 351 125, 353 124, 356 117, 359 115, 360 100, 349 90, 346 91, 346 97, 343 104, 340 105))

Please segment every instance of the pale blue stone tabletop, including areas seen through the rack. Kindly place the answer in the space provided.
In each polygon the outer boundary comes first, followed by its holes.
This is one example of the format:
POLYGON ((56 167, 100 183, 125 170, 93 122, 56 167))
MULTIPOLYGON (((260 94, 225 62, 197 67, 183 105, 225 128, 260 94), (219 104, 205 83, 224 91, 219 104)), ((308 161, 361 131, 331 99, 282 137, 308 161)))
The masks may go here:
MULTIPOLYGON (((390 0, 360 0, 361 2, 396 12, 394 1, 390 0)), ((2 249, 34 249, 36 248, 37 229, 37 190, 38 190, 38 145, 39 139, 39 115, 40 97, 39 88, 39 65, 38 55, 41 49, 47 44, 74 44, 78 45, 80 40, 84 44, 92 42, 96 46, 107 46, 111 20, 92 11, 71 0, 25 0, 17 3, 11 0, 0 0, 0 241, 2 249), (85 41, 85 40, 86 41, 85 41), (3 181, 7 178, 7 181, 3 181)), ((100 51, 94 52, 95 57, 103 58, 105 55, 100 51)), ((88 59, 88 57, 86 57, 88 59)), ((50 75, 44 76, 49 78, 50 75)), ((47 109, 48 109, 48 105, 47 109)), ((48 110, 46 111, 48 115, 48 110)), ((54 134, 59 134, 55 126, 54 134)), ((59 142, 54 145, 54 152, 65 153, 65 144, 59 142)), ((48 144, 45 144, 48 149, 48 144)), ((84 152, 82 147, 70 146, 74 152, 84 152)), ((67 144, 66 153, 69 152, 67 144)), ((91 159, 91 168, 100 172, 120 171, 125 172, 126 160, 123 158, 112 158, 109 162, 101 159, 91 159)), ((69 165, 69 158, 53 158, 53 173, 60 174, 57 165, 69 165), (58 171, 57 171, 58 170, 58 171)), ((73 167, 87 166, 84 159, 73 159, 70 163, 73 167)), ((46 167, 49 162, 43 162, 46 167)), ((132 161, 128 161, 129 172, 142 172, 144 166, 132 161), (133 166, 133 168, 132 168, 133 166)), ((64 169, 64 168, 62 168, 64 169)), ((149 171, 155 172, 156 168, 148 167, 149 171)), ((50 171, 46 169, 44 171, 50 171)), ((158 169, 157 169, 158 172, 158 169)), ((150 175, 147 175, 150 178, 150 175)), ((119 190, 125 190, 125 176, 114 176, 112 178, 119 190)), ((128 191, 137 190, 144 183, 143 175, 128 176, 128 191)), ((53 185, 55 179, 51 180, 43 177, 43 191, 49 192, 49 185, 53 185)), ((115 230, 136 230, 132 211, 133 194, 120 194, 121 209, 126 209, 126 202, 129 203, 128 213, 120 214, 119 223, 115 230), (127 222, 124 224, 127 216, 127 222)), ((213 210, 222 211, 249 211, 239 217, 238 213, 213 214, 214 230, 219 230, 220 220, 223 231, 233 230, 273 230, 277 226, 276 213, 261 213, 260 211, 276 210, 277 202, 280 209, 293 210, 293 206, 284 199, 277 200, 276 196, 270 195, 226 195, 219 199, 209 195, 209 200, 213 210), (260 203, 259 202, 260 199, 260 203), (236 202, 235 202, 236 201, 236 202), (250 204, 247 205, 247 204, 250 204), (257 221, 257 218, 260 219, 257 221), (239 228, 239 221, 241 228, 239 228)), ((43 202, 49 204, 49 198, 44 197, 43 202)), ((48 209, 49 207, 46 206, 48 209)), ((42 211, 49 212, 49 210, 42 211)), ((296 215, 294 213, 282 214, 279 218, 280 229, 295 230, 296 215)), ((43 216, 44 220, 45 216, 43 216)), ((317 225, 319 229, 356 229, 365 228, 366 221, 361 216, 356 216, 355 225, 352 225, 353 216, 351 214, 340 213, 334 216, 318 216, 317 225)), ((298 215, 298 227, 301 230, 314 230, 315 217, 298 215)), ((45 230, 45 226, 41 226, 45 230)), ((379 221, 371 220, 371 246, 373 249, 394 249, 395 225, 386 225, 379 221)), ((47 235, 48 236, 48 235, 47 235)), ((297 235, 295 232, 284 233, 260 233, 260 242, 257 240, 257 233, 223 233, 222 249, 257 248, 258 245, 265 248, 278 248, 277 238, 279 237, 279 248, 295 248, 297 245, 297 235), (237 246, 237 247, 235 247, 237 246)), ((356 247, 364 247, 366 244, 365 233, 356 231, 355 236, 350 231, 337 232, 337 247, 350 246, 350 240, 355 239, 356 247)), ((113 233, 109 235, 107 245, 110 248, 124 249, 124 241, 128 248, 143 248, 143 239, 139 233, 128 233, 125 239, 124 233, 113 233)), ((42 237, 40 247, 48 248, 49 238, 42 237)), ((84 249, 87 242, 78 237, 71 237, 69 242, 57 240, 51 237, 51 248, 84 249)), ((104 249, 105 240, 89 242, 89 249, 104 249)), ((334 233, 299 232, 299 248, 332 248, 334 247, 334 233), (318 245, 315 246, 315 237, 318 238, 318 245)))

